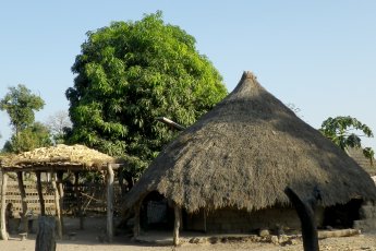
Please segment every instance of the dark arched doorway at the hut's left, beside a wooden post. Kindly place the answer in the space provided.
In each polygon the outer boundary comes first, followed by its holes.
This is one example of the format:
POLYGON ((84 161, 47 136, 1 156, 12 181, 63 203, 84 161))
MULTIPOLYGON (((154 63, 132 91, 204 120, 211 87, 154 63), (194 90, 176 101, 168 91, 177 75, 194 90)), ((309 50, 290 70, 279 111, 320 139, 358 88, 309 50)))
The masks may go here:
POLYGON ((173 207, 169 206, 167 199, 153 191, 144 199, 141 212, 141 227, 145 230, 172 230, 173 207))

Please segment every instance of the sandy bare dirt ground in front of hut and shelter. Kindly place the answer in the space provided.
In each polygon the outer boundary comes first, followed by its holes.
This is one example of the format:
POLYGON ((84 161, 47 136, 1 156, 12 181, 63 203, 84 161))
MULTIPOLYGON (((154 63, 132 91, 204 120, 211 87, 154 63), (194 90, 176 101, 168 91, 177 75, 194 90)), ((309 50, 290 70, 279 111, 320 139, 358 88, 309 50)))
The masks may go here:
MULTIPOLYGON (((163 236, 165 242, 156 243, 153 240, 162 239, 161 236, 149 234, 145 235, 148 242, 134 241, 130 236, 119 235, 116 236, 112 243, 107 243, 102 237, 105 232, 105 219, 86 219, 85 230, 77 229, 78 223, 75 220, 65 220, 66 232, 76 232, 74 240, 70 240, 65 235, 62 240, 57 241, 58 251, 167 251, 167 250, 179 250, 179 251, 193 251, 193 250, 264 250, 264 251, 300 251, 303 250, 301 239, 295 239, 292 243, 280 246, 274 243, 262 243, 254 242, 251 240, 232 240, 227 239, 217 240, 216 243, 213 241, 199 241, 199 243, 190 243, 187 240, 191 238, 183 238, 184 243, 180 247, 172 247, 168 243, 170 239, 169 235, 163 236)), ((172 236, 172 235, 171 235, 172 236)), ((10 240, 0 240, 0 250, 7 251, 20 251, 20 250, 35 250, 35 237, 36 235, 28 235, 27 240, 21 240, 17 235, 11 235, 10 240)), ((198 241, 197 241, 198 242, 198 241)), ((376 251, 376 232, 363 234, 354 237, 341 237, 341 238, 327 238, 319 240, 320 250, 338 250, 338 251, 350 251, 350 250, 374 250, 376 251)))

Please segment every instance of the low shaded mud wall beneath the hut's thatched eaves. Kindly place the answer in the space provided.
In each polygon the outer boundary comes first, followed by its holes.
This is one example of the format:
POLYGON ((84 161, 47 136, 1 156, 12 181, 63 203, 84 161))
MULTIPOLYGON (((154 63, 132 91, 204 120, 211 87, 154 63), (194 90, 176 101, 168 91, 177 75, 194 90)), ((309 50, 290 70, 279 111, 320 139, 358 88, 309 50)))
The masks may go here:
MULTIPOLYGON (((316 211, 316 220, 320 226, 324 210, 316 211)), ((208 232, 252 232, 257 229, 300 229, 301 223, 294 208, 274 207, 248 213, 245 210, 221 208, 206 213, 206 226, 204 225, 204 212, 189 214, 186 230, 205 230, 208 232)))

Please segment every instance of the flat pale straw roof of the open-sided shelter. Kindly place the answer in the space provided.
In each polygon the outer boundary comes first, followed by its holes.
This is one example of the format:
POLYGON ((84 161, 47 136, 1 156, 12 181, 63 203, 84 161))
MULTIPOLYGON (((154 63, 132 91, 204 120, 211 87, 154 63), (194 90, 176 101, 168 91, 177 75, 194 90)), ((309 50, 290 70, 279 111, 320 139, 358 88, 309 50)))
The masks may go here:
POLYGON ((98 170, 117 159, 84 145, 63 145, 40 147, 1 159, 4 171, 85 169, 98 170))

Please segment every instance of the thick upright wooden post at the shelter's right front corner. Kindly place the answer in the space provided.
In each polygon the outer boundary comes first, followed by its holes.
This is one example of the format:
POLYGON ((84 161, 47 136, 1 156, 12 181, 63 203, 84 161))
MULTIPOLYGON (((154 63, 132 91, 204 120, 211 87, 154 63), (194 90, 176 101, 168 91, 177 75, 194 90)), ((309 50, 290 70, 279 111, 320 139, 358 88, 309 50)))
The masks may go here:
POLYGON ((112 242, 113 237, 113 170, 107 165, 107 238, 112 242))

